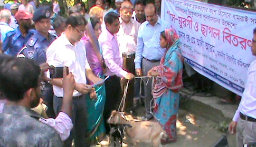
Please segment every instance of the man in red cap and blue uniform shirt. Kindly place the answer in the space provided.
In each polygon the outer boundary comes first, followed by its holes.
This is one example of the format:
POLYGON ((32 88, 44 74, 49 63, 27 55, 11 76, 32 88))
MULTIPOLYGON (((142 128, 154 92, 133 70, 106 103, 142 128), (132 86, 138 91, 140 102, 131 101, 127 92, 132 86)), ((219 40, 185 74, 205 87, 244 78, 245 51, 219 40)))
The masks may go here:
POLYGON ((17 56, 35 33, 35 30, 32 29, 32 14, 21 10, 16 13, 15 17, 20 26, 16 30, 8 32, 3 42, 3 51, 11 56, 17 56))

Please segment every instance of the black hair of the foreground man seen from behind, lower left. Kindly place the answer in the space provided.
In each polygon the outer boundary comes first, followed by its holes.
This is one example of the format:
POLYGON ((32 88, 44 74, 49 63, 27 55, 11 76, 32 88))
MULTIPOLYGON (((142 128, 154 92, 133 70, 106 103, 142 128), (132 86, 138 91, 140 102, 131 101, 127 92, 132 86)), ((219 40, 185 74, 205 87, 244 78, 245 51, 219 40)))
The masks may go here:
POLYGON ((35 60, 1 56, 0 91, 10 101, 20 101, 39 83, 41 69, 35 60))

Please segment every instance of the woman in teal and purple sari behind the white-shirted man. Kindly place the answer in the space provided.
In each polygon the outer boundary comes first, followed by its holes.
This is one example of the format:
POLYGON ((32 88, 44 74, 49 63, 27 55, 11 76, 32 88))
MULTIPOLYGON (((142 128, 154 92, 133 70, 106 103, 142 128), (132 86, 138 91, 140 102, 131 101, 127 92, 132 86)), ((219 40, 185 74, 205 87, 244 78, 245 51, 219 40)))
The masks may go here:
MULTIPOLYGON (((88 19, 88 28, 86 35, 82 38, 86 46, 86 57, 94 75, 104 79, 102 68, 101 49, 98 43, 98 37, 101 33, 100 22, 98 19, 88 19), (91 30, 91 28, 92 30, 91 30)), ((93 85, 89 81, 90 85, 93 85)), ((105 106, 105 85, 95 86, 96 97, 87 97, 87 128, 91 143, 99 143, 99 139, 105 137, 105 125, 103 120, 103 109, 105 106)))

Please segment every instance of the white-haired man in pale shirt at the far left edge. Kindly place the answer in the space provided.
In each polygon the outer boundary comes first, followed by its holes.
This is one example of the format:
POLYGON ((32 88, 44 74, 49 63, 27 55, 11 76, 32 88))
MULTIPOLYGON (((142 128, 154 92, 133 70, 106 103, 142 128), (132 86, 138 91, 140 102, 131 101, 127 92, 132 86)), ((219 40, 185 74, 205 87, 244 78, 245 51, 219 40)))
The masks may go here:
MULTIPOLYGON (((9 31, 14 31, 14 28, 12 28, 8 25, 11 21, 11 15, 12 15, 12 13, 10 12, 10 10, 2 9, 0 11, 0 31, 1 31, 1 41, 2 42, 4 41, 6 34, 9 31)), ((0 50, 0 53, 2 51, 3 50, 0 50)))

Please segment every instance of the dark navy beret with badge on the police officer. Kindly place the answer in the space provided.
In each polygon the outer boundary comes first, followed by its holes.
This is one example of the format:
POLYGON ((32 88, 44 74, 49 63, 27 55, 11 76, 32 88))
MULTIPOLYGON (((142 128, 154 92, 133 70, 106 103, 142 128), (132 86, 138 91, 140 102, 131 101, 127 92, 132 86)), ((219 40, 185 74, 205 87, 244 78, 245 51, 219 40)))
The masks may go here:
POLYGON ((44 18, 50 18, 51 17, 51 9, 49 6, 43 6, 38 8, 34 15, 33 15, 33 21, 38 22, 41 19, 44 18))

